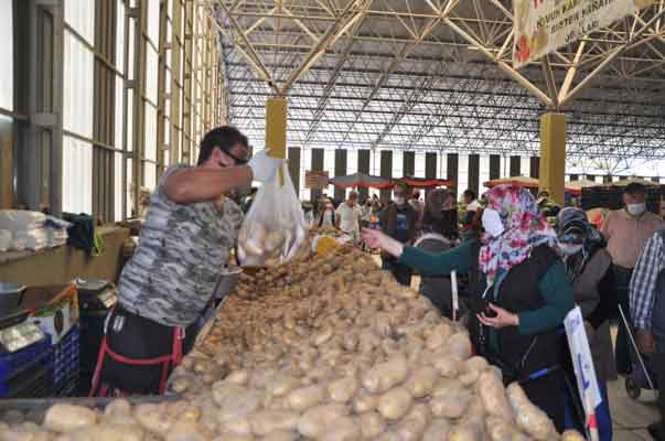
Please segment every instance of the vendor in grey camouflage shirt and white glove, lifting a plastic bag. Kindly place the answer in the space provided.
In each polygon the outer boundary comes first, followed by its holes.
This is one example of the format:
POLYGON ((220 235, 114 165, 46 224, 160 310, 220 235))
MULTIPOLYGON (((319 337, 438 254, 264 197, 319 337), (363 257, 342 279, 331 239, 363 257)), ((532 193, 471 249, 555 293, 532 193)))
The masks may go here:
POLYGON ((247 138, 233 127, 201 141, 196 166, 170 166, 150 198, 139 247, 118 283, 106 321, 90 395, 162 394, 183 354, 186 332, 207 306, 243 220, 226 197, 271 180, 283 160, 248 160, 247 138))

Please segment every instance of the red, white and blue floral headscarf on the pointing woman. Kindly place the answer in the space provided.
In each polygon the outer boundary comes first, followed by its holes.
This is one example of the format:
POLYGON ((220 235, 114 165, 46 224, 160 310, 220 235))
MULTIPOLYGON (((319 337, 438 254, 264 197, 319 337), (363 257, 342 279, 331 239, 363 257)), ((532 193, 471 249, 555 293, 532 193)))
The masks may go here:
POLYGON ((504 233, 494 238, 483 237, 480 268, 492 286, 511 268, 526 260, 532 249, 546 244, 555 247, 557 236, 540 214, 534 195, 518 185, 498 185, 484 194, 487 208, 501 216, 504 233))

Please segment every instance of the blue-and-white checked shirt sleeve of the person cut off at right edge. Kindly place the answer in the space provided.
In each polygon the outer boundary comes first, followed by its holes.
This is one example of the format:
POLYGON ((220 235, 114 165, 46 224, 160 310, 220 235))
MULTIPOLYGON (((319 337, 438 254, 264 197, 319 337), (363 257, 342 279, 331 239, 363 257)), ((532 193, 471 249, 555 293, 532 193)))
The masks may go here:
POLYGON ((631 316, 639 330, 651 331, 656 282, 663 269, 663 239, 658 233, 646 243, 630 283, 631 316))

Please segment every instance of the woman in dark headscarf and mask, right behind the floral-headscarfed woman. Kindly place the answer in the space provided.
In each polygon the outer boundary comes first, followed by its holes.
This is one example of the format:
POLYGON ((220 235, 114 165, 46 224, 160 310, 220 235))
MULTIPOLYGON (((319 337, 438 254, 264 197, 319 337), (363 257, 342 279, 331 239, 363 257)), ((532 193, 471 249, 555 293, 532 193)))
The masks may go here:
MULTIPOLYGON (((600 440, 610 441, 612 417, 608 401, 608 379, 616 376, 610 335, 610 310, 615 299, 612 258, 605 249, 604 239, 589 224, 587 213, 579 208, 564 208, 558 214, 557 237, 568 281, 572 283, 572 294, 588 330, 589 347, 603 400, 596 409, 600 440)), ((575 378, 572 363, 567 368, 569 378, 575 378)), ((578 400, 578 408, 582 408, 578 395, 569 399, 578 400)), ((575 416, 571 409, 571 406, 567 406, 566 428, 583 431, 584 421, 575 418, 579 416, 575 416)))

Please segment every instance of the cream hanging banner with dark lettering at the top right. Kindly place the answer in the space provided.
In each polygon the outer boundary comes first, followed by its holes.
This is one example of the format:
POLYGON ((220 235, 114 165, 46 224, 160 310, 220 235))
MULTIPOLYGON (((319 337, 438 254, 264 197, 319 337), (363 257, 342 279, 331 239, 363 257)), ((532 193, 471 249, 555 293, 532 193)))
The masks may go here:
POLYGON ((513 66, 523 67, 654 0, 514 0, 513 66))

